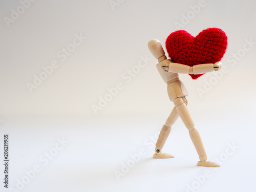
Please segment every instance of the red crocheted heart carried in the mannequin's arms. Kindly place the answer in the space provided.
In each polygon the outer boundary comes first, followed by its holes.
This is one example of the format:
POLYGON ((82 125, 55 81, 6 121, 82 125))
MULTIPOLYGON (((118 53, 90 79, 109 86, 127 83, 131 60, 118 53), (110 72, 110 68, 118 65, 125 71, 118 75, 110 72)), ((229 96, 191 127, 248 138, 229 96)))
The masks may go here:
MULTIPOLYGON (((196 37, 184 30, 171 33, 165 42, 169 57, 173 62, 194 66, 220 61, 226 52, 227 36, 219 28, 208 28, 196 37)), ((203 74, 191 75, 197 79, 203 74)))

